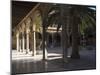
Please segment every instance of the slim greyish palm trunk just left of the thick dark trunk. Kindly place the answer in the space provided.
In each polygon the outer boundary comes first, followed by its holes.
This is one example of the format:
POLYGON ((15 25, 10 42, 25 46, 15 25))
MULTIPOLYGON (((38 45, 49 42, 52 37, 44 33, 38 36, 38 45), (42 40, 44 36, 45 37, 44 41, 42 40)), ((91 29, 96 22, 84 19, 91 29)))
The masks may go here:
POLYGON ((66 5, 61 5, 61 20, 62 20, 62 49, 64 62, 68 62, 68 35, 67 27, 69 24, 69 8, 66 5), (65 10, 67 10, 65 12, 65 10))

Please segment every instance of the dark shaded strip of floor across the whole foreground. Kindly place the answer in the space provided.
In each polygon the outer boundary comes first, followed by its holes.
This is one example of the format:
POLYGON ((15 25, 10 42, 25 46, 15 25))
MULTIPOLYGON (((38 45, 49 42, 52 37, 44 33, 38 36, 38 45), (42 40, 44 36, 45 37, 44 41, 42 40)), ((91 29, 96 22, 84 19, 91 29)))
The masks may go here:
POLYGON ((88 70, 95 68, 96 64, 86 59, 70 59, 68 63, 63 62, 63 59, 61 58, 46 61, 41 60, 37 62, 28 62, 22 60, 12 63, 12 74, 88 70))

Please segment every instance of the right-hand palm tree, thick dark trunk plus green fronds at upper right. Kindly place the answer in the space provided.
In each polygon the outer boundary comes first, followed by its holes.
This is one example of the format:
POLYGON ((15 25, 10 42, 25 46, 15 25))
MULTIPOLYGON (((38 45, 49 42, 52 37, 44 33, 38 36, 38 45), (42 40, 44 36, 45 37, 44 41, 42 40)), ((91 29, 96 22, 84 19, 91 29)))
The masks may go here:
MULTIPOLYGON (((72 55, 71 58, 80 58, 79 55, 79 32, 78 25, 83 29, 80 29, 84 33, 87 27, 95 25, 95 17, 93 16, 94 10, 91 10, 88 6, 74 6, 73 7, 73 25, 72 25, 72 55), (88 19, 88 20, 87 20, 88 19), (83 23, 84 22, 84 23, 83 23), (90 26, 89 26, 90 25, 90 26)), ((81 33, 82 34, 82 33, 81 33)))

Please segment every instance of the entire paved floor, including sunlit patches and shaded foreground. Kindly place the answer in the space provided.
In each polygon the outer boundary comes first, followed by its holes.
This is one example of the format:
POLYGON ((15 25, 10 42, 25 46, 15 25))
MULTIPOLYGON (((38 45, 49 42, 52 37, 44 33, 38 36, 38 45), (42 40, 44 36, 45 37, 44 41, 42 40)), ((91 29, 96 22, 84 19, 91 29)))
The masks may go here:
POLYGON ((88 70, 96 68, 96 51, 80 50, 80 59, 69 59, 68 63, 63 62, 60 48, 48 49, 48 60, 42 60, 42 54, 35 57, 30 54, 17 53, 12 51, 12 72, 13 74, 88 70))

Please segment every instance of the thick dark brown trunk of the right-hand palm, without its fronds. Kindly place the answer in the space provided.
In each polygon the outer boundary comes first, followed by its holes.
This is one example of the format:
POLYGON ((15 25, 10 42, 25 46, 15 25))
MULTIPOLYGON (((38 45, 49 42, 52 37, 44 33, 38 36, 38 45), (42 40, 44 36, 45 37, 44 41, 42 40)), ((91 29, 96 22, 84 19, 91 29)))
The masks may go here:
POLYGON ((78 17, 77 14, 75 13, 76 11, 74 10, 73 14, 73 24, 72 24, 72 55, 71 58, 80 58, 79 55, 79 47, 78 47, 78 17))

